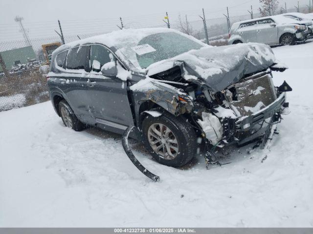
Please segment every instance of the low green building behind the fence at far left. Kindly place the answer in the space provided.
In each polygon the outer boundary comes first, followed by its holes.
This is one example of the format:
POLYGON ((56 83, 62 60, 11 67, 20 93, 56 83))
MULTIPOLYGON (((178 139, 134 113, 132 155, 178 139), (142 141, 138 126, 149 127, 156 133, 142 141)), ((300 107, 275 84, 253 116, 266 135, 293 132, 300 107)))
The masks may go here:
MULTIPOLYGON (((35 52, 32 46, 26 46, 18 49, 7 50, 0 52, 1 57, 5 63, 6 69, 11 69, 17 64, 25 64, 28 62, 28 59, 36 59, 35 52)), ((0 66, 0 71, 2 67, 0 66)))

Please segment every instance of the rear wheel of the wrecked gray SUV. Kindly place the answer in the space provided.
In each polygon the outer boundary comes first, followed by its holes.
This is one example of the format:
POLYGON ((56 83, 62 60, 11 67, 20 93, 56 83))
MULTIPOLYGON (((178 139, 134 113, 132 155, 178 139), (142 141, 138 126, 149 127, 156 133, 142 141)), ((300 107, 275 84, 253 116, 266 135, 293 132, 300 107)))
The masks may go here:
POLYGON ((66 127, 74 129, 75 131, 82 131, 86 127, 86 125, 75 116, 72 108, 65 100, 59 102, 59 113, 66 127))

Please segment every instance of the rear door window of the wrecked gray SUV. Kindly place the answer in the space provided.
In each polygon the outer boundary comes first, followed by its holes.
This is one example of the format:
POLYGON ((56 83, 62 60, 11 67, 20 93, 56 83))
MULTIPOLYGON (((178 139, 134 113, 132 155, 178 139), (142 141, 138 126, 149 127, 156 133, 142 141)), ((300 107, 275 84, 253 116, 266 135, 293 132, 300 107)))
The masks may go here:
POLYGON ((67 54, 67 69, 84 69, 89 71, 89 46, 72 48, 67 54))

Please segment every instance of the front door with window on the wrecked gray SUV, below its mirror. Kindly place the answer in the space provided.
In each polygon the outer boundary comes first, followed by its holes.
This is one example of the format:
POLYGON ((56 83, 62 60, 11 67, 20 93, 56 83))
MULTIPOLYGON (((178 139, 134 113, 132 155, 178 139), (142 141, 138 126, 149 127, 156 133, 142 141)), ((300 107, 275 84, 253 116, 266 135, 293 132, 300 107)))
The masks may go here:
MULTIPOLYGON (((90 48, 90 64, 116 61, 113 53, 104 45, 93 44, 90 48)), ((118 61, 116 61, 118 63, 118 61)), ((120 64, 120 69, 123 69, 120 64)), ((93 66, 91 66, 93 67, 93 66)), ((116 77, 105 77, 99 69, 92 68, 86 76, 92 113, 97 123, 125 130, 133 125, 133 116, 127 96, 127 81, 116 77)))

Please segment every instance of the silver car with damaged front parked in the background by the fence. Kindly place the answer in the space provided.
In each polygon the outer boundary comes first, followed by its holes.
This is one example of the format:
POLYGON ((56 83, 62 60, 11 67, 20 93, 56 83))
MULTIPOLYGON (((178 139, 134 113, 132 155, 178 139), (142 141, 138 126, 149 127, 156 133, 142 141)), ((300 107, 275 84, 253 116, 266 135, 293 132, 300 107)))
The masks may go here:
POLYGON ((228 44, 259 42, 292 45, 307 39, 310 33, 308 24, 282 15, 236 22, 230 29, 228 44))

